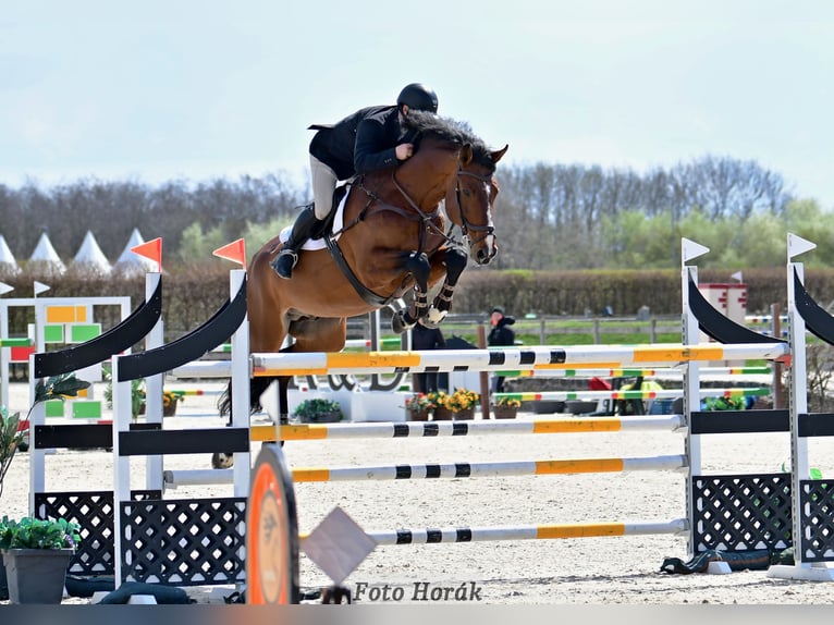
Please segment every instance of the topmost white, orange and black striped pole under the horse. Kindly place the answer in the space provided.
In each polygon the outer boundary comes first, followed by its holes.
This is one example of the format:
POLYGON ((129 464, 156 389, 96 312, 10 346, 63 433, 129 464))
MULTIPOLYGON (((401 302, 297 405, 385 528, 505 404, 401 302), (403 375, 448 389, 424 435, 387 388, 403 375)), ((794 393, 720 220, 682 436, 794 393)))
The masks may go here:
POLYGON ((598 367, 662 366, 694 360, 785 359, 785 343, 723 345, 586 345, 536 346, 527 350, 434 350, 430 352, 253 354, 255 376, 317 376, 421 371, 498 371, 571 368, 577 363, 598 367))

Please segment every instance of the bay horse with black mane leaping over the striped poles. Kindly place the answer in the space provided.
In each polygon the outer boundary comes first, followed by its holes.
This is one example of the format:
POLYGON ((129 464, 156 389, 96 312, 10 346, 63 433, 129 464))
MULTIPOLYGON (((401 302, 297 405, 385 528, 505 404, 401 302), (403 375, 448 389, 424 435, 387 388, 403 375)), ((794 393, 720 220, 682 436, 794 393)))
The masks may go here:
MULTIPOLYGON (((467 264, 447 221, 461 229, 468 256, 478 265, 489 264, 498 253, 494 173, 508 146, 492 150, 467 124, 421 111, 409 111, 403 125, 414 155, 347 184, 344 225, 335 233, 338 240, 326 235, 329 249, 303 250, 290 280, 270 267, 281 249, 280 235, 253 256, 247 271, 253 353, 339 352, 345 345, 347 317, 377 310, 409 290, 413 302, 395 312, 393 330, 402 333, 421 318, 439 324, 467 264), (429 304, 428 294, 441 279, 429 304), (287 335, 294 342, 284 347, 287 335)), ((250 379, 253 412, 260 409, 260 395, 274 379, 250 379)), ((289 378, 278 380, 285 393, 289 378)), ((230 391, 231 382, 221 414, 231 412, 230 391)))

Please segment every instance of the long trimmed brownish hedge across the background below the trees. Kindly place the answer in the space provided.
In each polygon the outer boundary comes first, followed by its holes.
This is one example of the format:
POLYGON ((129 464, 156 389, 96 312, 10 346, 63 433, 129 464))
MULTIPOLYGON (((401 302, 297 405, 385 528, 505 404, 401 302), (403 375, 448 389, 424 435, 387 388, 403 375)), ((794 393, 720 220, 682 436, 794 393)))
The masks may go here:
MULTIPOLYGON (((700 270, 701 283, 733 282, 731 271, 700 270)), ((784 269, 745 270, 749 314, 768 314, 771 304, 786 310, 784 269)), ((144 275, 97 277, 70 271, 61 277, 24 272, 0 274, 0 281, 14 287, 5 297, 30 297, 33 282, 50 286, 47 296, 89 297, 122 296, 132 307, 145 296, 144 275)), ((229 268, 213 266, 174 267, 163 275, 162 318, 168 339, 176 338, 206 321, 229 297, 229 268)), ((806 270, 806 286, 823 306, 834 299, 834 270, 806 270)), ((582 316, 599 315, 605 306, 615 316, 631 316, 646 305, 653 315, 680 314, 680 274, 678 271, 490 271, 468 269, 455 292, 452 312, 488 314, 501 304, 507 314, 582 316)), ((105 328, 119 320, 118 310, 97 311, 105 328)), ((25 333, 34 321, 29 309, 13 309, 10 329, 25 333)))

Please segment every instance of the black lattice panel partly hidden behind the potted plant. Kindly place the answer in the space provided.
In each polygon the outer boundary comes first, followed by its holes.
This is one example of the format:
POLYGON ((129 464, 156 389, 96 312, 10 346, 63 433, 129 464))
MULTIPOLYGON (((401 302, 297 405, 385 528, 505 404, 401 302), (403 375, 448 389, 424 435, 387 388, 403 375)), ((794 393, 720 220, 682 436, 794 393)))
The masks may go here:
MULTIPOLYGON (((133 499, 159 499, 159 490, 131 493, 133 499)), ((81 526, 81 544, 70 562, 70 573, 81 576, 113 575, 113 491, 35 493, 38 518, 65 518, 81 526)))

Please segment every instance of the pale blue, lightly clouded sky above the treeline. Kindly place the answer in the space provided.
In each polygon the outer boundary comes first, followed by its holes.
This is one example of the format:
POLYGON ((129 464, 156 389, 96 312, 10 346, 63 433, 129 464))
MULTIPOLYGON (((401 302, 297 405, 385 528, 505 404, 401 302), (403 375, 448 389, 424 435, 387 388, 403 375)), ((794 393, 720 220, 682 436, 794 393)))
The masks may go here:
POLYGON ((422 82, 504 163, 755 160, 834 210, 833 69, 829 0, 2 0, 0 183, 306 185, 309 124, 422 82))

